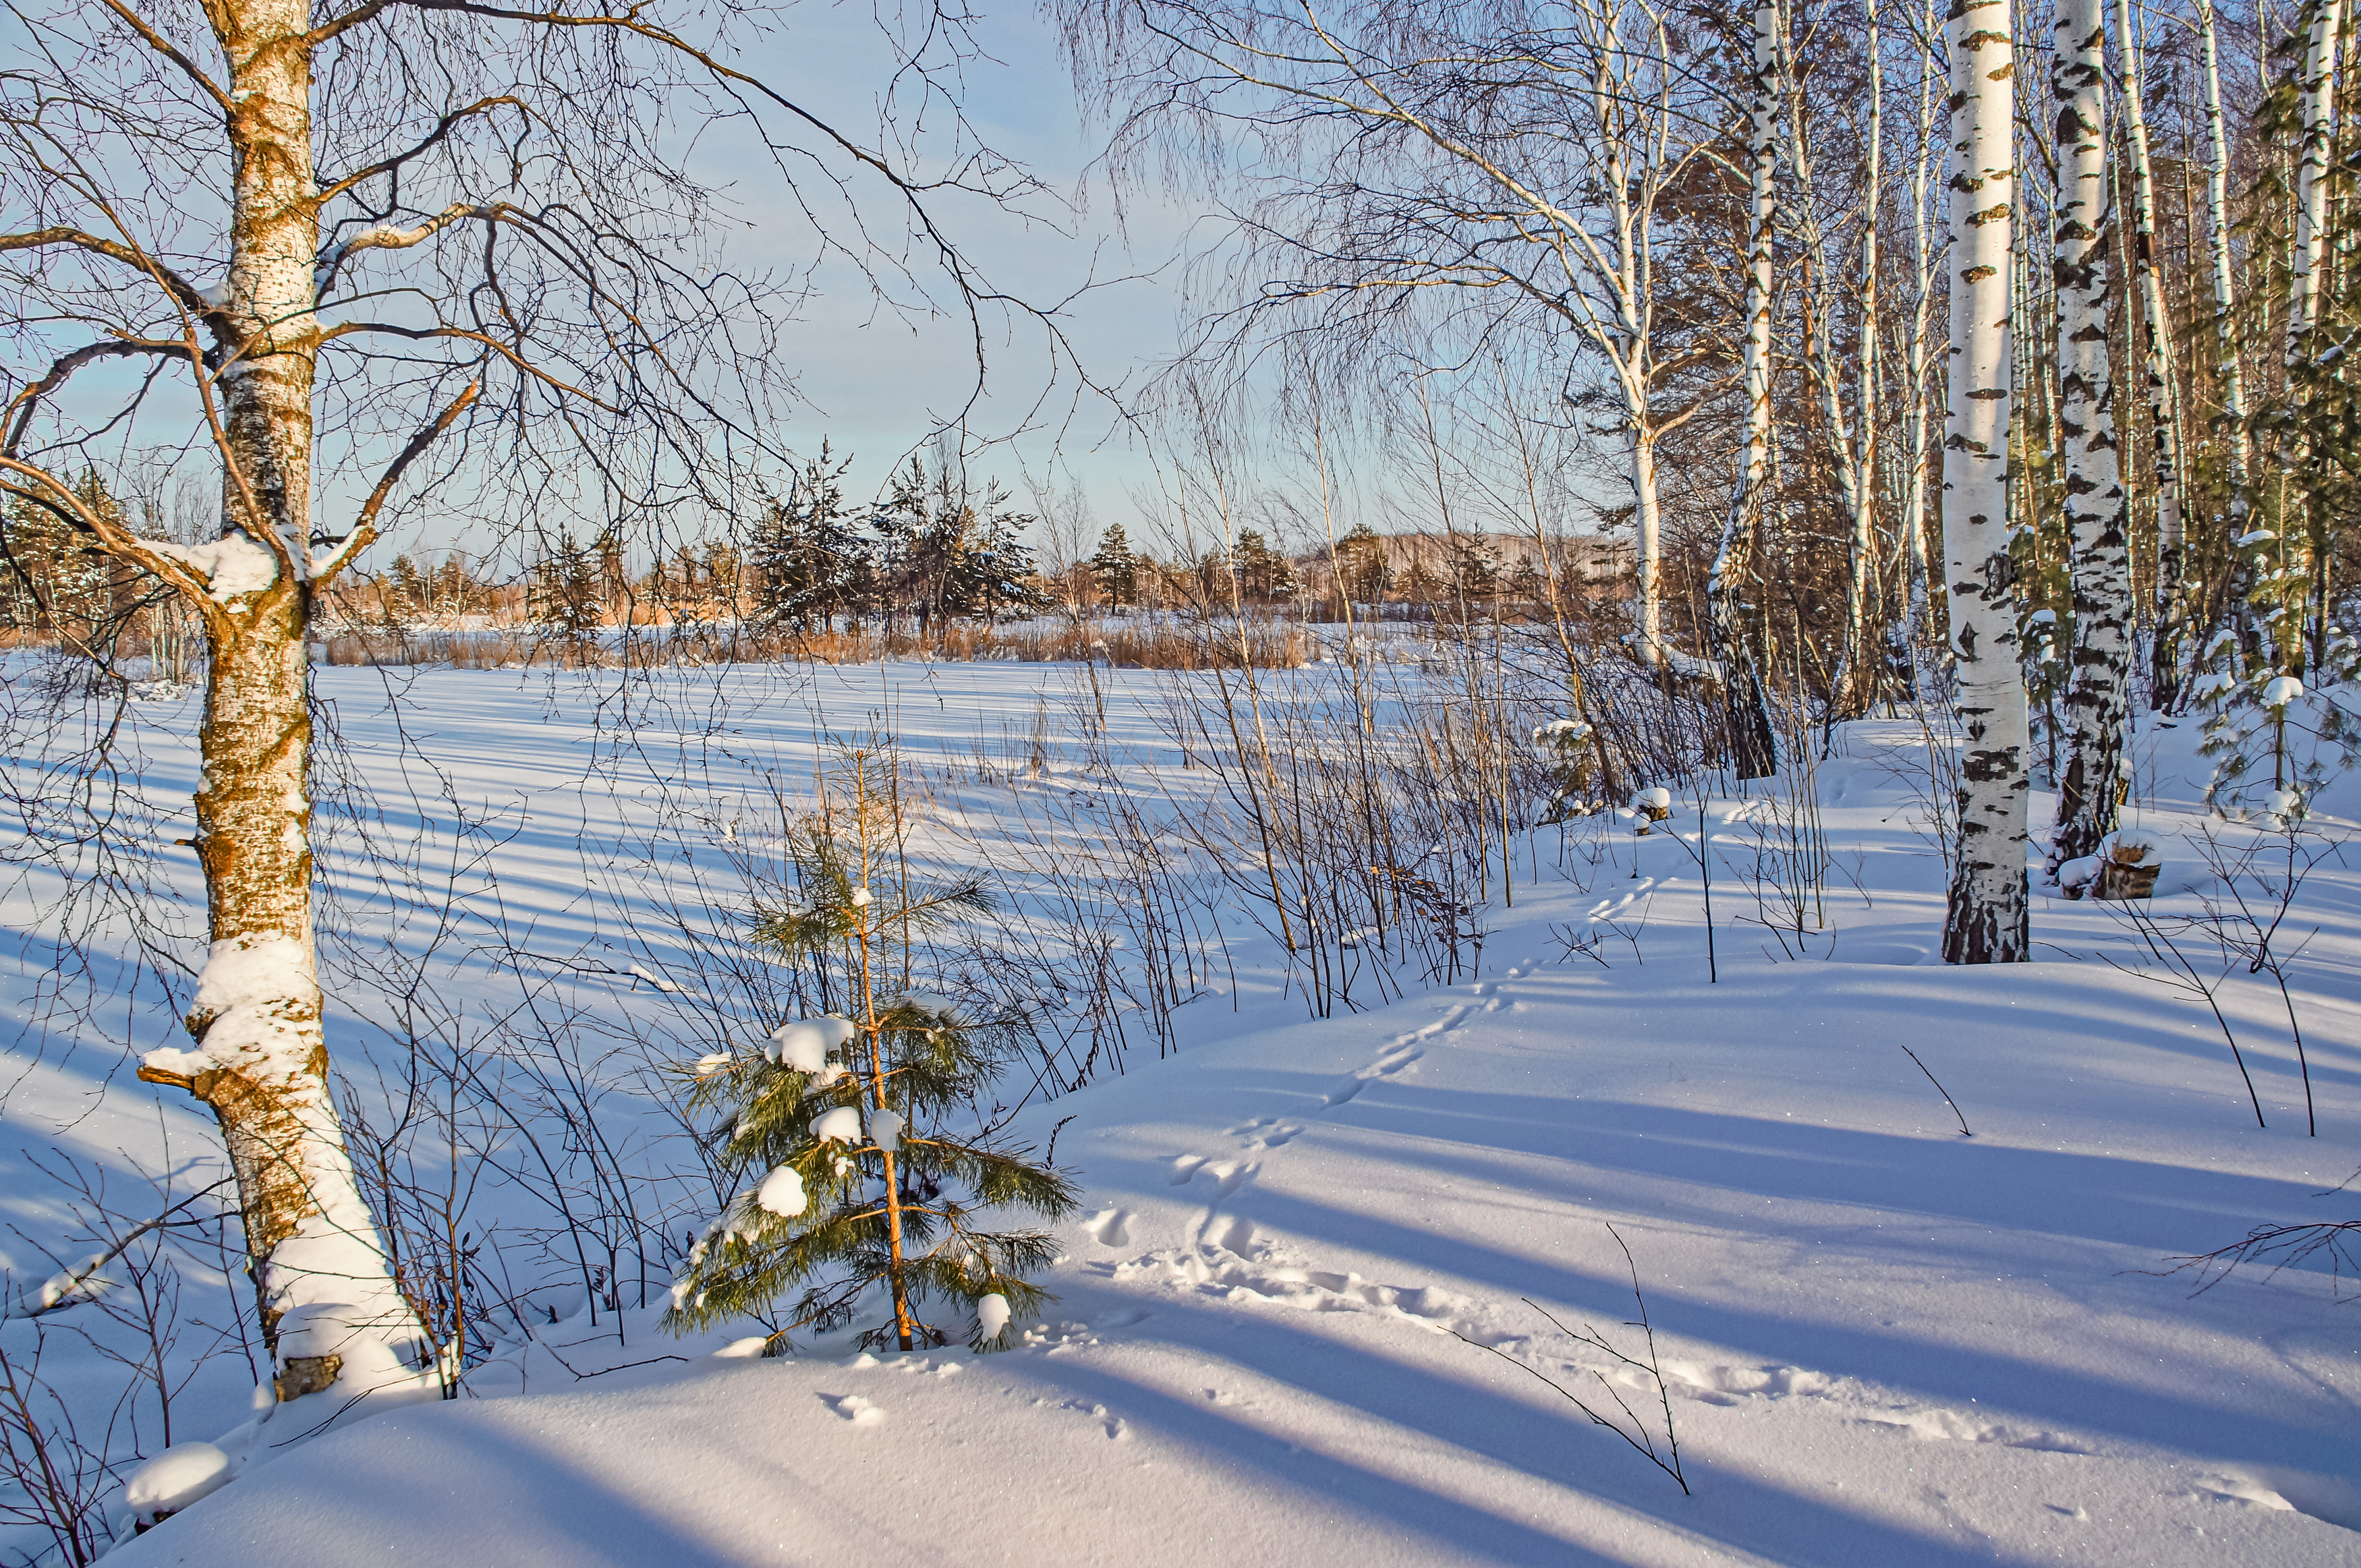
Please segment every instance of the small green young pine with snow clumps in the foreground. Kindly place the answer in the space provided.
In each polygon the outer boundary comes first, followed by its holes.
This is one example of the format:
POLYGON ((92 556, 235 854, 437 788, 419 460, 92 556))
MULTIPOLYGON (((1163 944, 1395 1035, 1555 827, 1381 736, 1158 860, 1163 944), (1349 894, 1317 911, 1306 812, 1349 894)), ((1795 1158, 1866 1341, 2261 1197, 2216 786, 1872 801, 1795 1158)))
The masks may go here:
POLYGON ((807 966, 841 1015, 781 1025, 760 1051, 699 1063, 692 1103, 722 1112, 720 1164, 744 1185, 673 1282, 675 1332, 770 1318, 796 1292, 774 1346, 852 1322, 871 1287, 892 1304, 864 1348, 949 1344, 930 1301, 973 1318, 963 1339, 1003 1348, 1051 1296, 1025 1275, 1055 1256, 1044 1230, 987 1230, 996 1209, 1062 1219, 1074 1185, 1029 1150, 973 1126, 1027 1039, 1022 1018, 977 1018, 907 987, 923 933, 992 912, 982 881, 914 883, 881 760, 855 751, 841 782, 850 831, 822 812, 791 834, 800 897, 756 912, 753 940, 807 966))

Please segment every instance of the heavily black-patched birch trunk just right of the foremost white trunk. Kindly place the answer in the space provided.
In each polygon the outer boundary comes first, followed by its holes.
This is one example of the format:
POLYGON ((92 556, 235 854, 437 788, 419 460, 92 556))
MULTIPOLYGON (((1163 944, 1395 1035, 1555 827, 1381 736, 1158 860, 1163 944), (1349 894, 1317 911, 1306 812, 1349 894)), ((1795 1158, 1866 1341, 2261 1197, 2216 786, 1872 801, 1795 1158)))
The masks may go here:
POLYGON ((2073 536, 2071 741, 2059 770, 2049 869, 2099 850, 2123 793, 2130 706, 2132 545, 2111 413, 2106 189, 2106 14, 2101 0, 2056 0, 2052 54, 2059 196, 2052 276, 2059 298, 2059 444, 2073 536))

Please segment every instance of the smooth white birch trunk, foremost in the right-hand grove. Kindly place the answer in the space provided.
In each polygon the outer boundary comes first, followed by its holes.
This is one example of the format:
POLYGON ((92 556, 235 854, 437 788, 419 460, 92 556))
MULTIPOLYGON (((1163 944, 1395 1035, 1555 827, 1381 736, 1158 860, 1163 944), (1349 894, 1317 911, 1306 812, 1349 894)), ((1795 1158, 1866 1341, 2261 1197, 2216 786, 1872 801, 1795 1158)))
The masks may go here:
POLYGON ((2009 220, 2016 194, 2007 0, 1953 0, 1950 378, 1943 557, 1960 678, 1960 848, 1945 963, 2028 956, 2026 682, 2009 557, 2009 220))

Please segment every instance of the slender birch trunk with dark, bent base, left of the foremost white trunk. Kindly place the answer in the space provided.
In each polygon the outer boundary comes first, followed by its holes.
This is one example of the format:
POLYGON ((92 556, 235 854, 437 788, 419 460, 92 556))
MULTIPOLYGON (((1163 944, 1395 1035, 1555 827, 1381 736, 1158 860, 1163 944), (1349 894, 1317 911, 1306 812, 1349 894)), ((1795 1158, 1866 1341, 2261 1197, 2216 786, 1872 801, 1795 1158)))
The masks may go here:
POLYGON ((1721 524, 1721 548, 1714 553, 1714 574, 1707 583, 1707 616, 1714 638, 1714 659, 1721 661, 1721 701, 1731 767, 1740 779, 1768 779, 1778 772, 1778 746, 1771 739, 1771 708, 1764 701, 1761 671, 1754 661, 1747 595, 1754 588, 1754 517, 1761 505, 1764 472, 1771 465, 1771 224, 1778 210, 1775 125, 1780 104, 1778 0, 1759 0, 1754 7, 1752 92, 1754 104, 1747 118, 1747 163, 1752 172, 1747 203, 1747 331, 1740 371, 1747 423, 1738 446, 1738 477, 1731 484, 1731 512, 1721 524))

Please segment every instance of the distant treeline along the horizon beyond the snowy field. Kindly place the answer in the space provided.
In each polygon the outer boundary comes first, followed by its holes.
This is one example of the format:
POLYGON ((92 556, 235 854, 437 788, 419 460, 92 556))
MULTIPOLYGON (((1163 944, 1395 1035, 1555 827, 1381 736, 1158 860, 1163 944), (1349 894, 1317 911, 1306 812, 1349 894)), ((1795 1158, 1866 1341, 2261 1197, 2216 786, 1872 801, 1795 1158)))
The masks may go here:
POLYGON ((793 652, 796 638, 838 631, 926 645, 949 626, 1036 616, 1435 621, 1466 609, 1520 623, 1546 614, 1551 588, 1584 602, 1631 593, 1629 550, 1610 541, 1537 550, 1490 534, 1379 534, 1367 522, 1334 548, 1301 553, 1256 527, 1159 553, 1107 524, 1086 557, 1041 560, 1027 538, 1039 517, 1013 510, 999 484, 968 494, 947 468, 914 460, 885 501, 859 508, 845 498, 850 460, 822 451, 725 536, 675 543, 645 567, 630 564, 614 529, 560 531, 508 574, 458 550, 397 555, 338 590, 342 628, 527 628, 560 642, 633 626, 730 628, 793 652))

